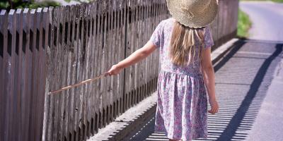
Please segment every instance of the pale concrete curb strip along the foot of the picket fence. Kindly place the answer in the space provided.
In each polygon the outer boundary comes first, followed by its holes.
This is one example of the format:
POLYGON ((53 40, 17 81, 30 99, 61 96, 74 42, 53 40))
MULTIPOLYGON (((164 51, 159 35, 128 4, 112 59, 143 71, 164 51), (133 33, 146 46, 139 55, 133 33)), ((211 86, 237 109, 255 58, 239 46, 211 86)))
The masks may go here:
MULTIPOLYGON (((229 53, 233 47, 238 45, 239 39, 233 38, 229 42, 221 45, 212 52, 212 63, 218 62, 225 54, 229 53)), ((146 97, 139 104, 128 109, 124 114, 117 117, 115 121, 106 125, 105 128, 98 129, 98 133, 87 141, 117 141, 123 140, 132 130, 139 128, 146 119, 156 112, 157 92, 146 97), (142 110, 144 109, 144 110, 142 110)))

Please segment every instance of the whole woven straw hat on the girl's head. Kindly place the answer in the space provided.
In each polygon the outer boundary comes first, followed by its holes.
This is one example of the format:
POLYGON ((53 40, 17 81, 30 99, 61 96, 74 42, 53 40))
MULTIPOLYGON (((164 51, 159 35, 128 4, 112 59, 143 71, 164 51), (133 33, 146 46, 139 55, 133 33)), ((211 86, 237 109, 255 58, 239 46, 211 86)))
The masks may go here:
POLYGON ((205 27, 214 21, 218 0, 166 0, 175 20, 187 27, 205 27))

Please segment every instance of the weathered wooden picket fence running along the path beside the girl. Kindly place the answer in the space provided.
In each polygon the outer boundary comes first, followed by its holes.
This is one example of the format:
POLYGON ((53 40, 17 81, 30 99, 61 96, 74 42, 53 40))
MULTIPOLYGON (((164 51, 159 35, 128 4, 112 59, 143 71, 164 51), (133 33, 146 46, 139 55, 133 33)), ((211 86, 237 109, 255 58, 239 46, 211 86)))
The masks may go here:
MULTIPOLYGON (((86 140, 156 91, 155 51, 119 75, 95 78, 141 48, 170 14, 164 0, 0 12, 0 140, 86 140)), ((216 47, 235 37, 238 0, 220 0, 211 25, 216 47)))

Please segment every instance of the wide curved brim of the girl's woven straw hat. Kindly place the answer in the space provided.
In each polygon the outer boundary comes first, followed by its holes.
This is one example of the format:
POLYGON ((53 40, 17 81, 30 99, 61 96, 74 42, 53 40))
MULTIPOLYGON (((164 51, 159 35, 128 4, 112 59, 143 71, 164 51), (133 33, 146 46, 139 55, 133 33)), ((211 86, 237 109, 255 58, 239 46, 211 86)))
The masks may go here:
POLYGON ((218 1, 212 0, 207 8, 201 13, 194 13, 194 16, 187 16, 188 13, 180 9, 180 3, 176 0, 166 0, 170 14, 180 24, 187 27, 200 28, 211 24, 218 13, 218 1))

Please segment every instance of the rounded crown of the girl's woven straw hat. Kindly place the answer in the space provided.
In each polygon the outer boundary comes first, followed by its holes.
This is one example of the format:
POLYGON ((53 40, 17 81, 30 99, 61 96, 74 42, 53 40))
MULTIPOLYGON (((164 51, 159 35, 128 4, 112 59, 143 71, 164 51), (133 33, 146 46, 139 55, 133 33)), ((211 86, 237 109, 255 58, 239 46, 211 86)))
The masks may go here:
POLYGON ((191 13, 200 13, 210 4, 211 0, 183 0, 182 9, 191 13))

